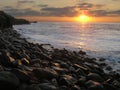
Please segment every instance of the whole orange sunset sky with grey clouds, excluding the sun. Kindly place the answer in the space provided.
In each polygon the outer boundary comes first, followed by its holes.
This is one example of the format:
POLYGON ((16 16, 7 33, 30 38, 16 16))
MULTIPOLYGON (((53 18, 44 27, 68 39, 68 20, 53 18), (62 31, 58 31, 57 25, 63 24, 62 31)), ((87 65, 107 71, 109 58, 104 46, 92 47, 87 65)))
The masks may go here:
POLYGON ((120 0, 0 0, 0 10, 33 21, 120 22, 120 0))

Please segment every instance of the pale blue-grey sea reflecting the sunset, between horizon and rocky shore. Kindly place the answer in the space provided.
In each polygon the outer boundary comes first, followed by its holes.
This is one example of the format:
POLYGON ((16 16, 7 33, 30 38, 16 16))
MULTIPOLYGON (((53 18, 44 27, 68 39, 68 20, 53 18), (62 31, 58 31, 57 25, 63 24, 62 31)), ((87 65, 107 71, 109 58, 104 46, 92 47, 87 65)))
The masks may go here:
POLYGON ((82 49, 88 55, 106 58, 120 66, 120 23, 38 22, 14 28, 34 43, 82 49))

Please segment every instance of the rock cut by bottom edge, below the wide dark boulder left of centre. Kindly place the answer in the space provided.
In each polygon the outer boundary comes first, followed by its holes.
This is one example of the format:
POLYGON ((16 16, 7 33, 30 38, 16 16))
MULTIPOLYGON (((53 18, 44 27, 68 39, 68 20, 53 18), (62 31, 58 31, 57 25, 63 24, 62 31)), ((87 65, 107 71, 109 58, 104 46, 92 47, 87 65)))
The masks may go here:
POLYGON ((52 85, 51 83, 41 83, 39 84, 41 90, 58 90, 56 86, 52 85))

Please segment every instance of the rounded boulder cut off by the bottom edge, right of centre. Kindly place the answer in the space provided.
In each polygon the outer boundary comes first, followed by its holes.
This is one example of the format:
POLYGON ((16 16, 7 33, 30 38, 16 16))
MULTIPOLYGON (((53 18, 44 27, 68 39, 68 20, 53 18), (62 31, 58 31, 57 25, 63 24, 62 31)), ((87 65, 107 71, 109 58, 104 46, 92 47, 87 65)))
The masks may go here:
MULTIPOLYGON (((88 82, 85 83, 87 90, 106 90, 102 84, 99 82, 95 82, 92 80, 89 80, 88 82)), ((109 89, 107 89, 109 90, 109 89)))

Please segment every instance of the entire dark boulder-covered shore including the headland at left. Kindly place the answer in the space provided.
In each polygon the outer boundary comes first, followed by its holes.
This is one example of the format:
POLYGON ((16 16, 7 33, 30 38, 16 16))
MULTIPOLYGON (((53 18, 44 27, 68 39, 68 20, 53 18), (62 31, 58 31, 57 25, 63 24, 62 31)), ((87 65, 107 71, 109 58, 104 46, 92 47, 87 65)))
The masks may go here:
POLYGON ((15 20, 0 11, 0 90, 120 90, 104 59, 30 43, 12 28, 26 20, 15 20))

